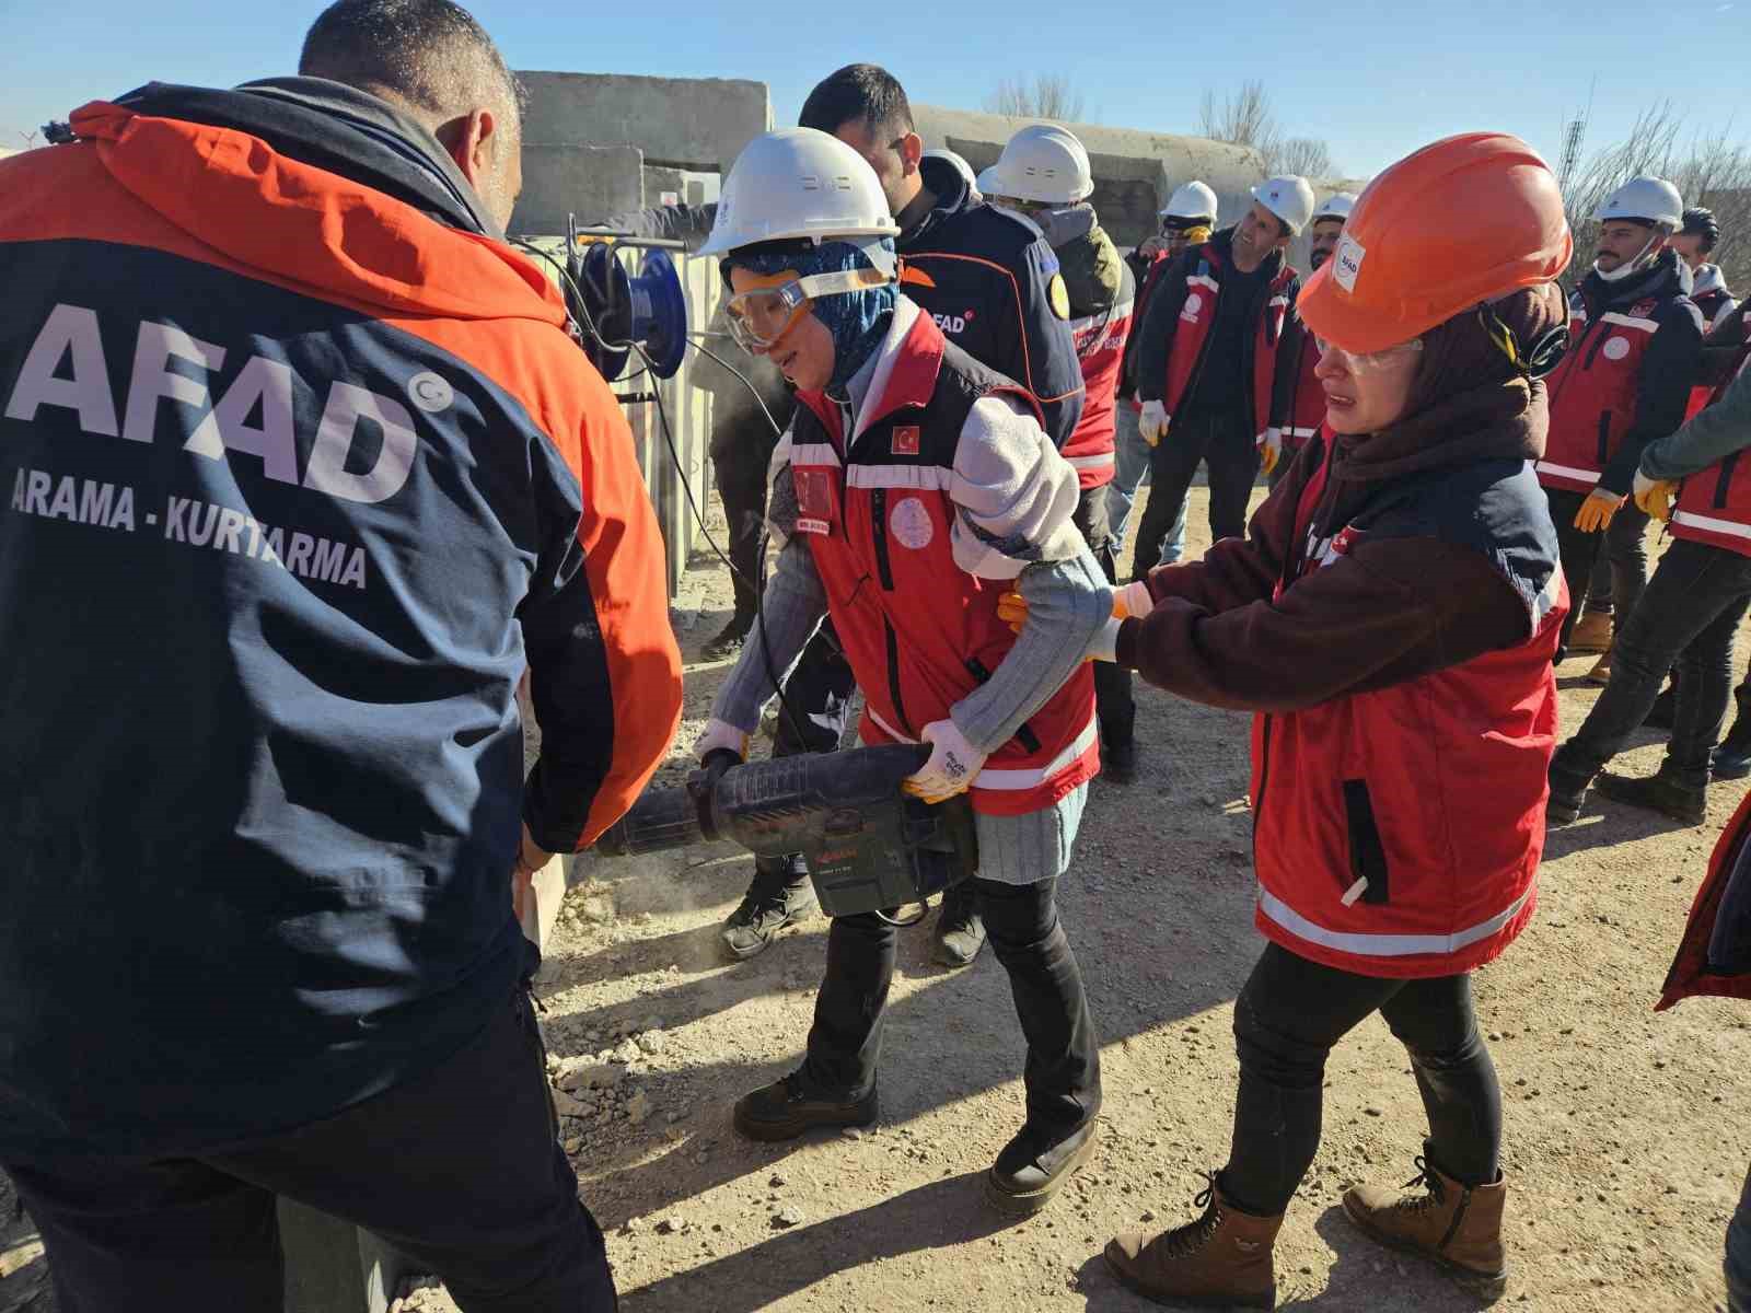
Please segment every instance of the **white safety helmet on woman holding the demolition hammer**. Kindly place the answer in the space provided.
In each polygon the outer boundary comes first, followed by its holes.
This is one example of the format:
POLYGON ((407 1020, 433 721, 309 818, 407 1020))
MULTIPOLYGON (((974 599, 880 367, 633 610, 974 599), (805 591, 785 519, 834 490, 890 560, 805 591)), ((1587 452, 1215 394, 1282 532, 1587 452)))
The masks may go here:
MULTIPOLYGON (((756 137, 735 158, 718 194, 718 217, 700 256, 727 256, 760 242, 853 242, 876 259, 881 238, 900 235, 868 161, 816 128, 756 137)), ((884 252, 883 252, 884 254, 884 252)))

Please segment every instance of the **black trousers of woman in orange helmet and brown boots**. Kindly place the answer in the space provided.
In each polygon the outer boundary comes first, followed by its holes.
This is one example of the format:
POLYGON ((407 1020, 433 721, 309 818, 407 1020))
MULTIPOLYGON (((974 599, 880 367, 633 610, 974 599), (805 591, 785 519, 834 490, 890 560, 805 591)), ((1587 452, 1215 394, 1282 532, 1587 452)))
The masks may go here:
POLYGON ((1478 1033, 1471 977, 1385 980, 1271 944, 1234 1001, 1240 1092, 1222 1192, 1275 1217, 1319 1152, 1326 1057, 1378 1012, 1410 1050, 1429 1115, 1427 1159, 1466 1185, 1499 1173, 1502 1094, 1478 1033))

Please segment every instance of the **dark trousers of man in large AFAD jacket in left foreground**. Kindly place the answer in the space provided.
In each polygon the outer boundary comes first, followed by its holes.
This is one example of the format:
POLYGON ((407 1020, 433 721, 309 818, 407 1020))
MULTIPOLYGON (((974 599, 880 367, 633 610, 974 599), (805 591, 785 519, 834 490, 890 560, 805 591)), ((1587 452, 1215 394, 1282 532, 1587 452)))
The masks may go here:
POLYGON ((468 1313, 616 1306, 520 989, 436 1071, 327 1120, 200 1157, 5 1169, 42 1232, 61 1313, 280 1313, 282 1194, 375 1231, 468 1313))

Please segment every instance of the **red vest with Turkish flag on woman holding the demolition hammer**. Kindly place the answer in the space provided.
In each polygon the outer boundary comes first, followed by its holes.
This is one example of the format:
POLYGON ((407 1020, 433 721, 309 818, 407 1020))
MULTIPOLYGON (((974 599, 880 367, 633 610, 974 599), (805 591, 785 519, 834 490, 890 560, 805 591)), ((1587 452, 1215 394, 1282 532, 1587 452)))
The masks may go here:
MULTIPOLYGON (((1005 585, 954 560, 949 488, 974 404, 1014 397, 1033 410, 1033 401, 946 341, 930 315, 900 305, 854 431, 821 392, 798 392, 791 422, 797 536, 863 690, 867 744, 916 742, 1016 644, 996 611, 1005 585)), ((1094 678, 1084 664, 989 756, 970 798, 975 811, 1023 816, 1098 772, 1094 678)))

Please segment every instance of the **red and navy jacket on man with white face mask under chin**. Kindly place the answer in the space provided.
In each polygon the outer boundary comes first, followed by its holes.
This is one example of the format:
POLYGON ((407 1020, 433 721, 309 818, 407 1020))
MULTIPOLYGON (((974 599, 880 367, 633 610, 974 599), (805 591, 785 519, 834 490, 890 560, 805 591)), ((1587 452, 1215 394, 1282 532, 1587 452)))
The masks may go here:
POLYGON ((1548 380, 1550 445, 1539 483, 1628 494, 1641 450, 1684 422, 1702 315, 1676 250, 1607 284, 1588 271, 1569 298, 1569 350, 1548 380))

